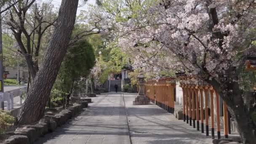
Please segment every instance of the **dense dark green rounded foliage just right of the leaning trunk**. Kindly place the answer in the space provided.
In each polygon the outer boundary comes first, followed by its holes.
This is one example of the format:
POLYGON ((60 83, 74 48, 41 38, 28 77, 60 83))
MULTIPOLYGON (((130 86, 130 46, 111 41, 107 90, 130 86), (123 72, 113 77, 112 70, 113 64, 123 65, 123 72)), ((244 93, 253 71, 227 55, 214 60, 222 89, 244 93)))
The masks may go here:
POLYGON ((68 48, 54 88, 69 93, 72 83, 87 77, 95 64, 95 55, 92 45, 83 39, 68 48))

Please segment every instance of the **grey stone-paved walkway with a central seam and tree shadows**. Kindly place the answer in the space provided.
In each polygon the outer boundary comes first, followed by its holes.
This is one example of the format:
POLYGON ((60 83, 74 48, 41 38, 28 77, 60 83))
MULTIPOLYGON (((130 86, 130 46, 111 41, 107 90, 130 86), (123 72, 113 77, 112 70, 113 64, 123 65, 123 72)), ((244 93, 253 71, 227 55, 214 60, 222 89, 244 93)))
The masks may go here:
POLYGON ((212 144, 210 136, 156 105, 133 106, 135 96, 97 96, 81 115, 35 144, 212 144))

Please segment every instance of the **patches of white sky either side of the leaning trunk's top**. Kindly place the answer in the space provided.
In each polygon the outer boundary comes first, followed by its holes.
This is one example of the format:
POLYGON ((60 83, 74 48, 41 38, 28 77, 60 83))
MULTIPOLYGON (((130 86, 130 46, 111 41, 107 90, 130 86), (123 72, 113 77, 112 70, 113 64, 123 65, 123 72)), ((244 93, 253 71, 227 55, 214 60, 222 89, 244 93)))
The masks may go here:
MULTIPOLYGON (((37 0, 36 3, 41 3, 41 2, 49 2, 51 1, 51 3, 56 7, 56 8, 59 8, 60 5, 61 5, 61 0, 37 0)), ((88 0, 88 2, 83 5, 82 7, 78 7, 77 8, 77 14, 80 13, 81 10, 87 10, 88 8, 88 5, 89 4, 95 4, 95 1, 96 0, 88 0)), ((79 5, 83 4, 83 0, 79 0, 79 5)))

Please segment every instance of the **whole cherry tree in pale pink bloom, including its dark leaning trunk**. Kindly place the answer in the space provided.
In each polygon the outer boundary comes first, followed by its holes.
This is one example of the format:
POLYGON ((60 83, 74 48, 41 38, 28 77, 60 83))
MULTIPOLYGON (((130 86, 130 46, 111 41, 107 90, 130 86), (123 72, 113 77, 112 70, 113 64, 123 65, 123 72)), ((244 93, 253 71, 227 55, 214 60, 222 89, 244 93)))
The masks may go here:
POLYGON ((256 0, 103 0, 91 14, 108 18, 133 67, 184 70, 211 84, 243 143, 256 141, 253 92, 240 85, 247 56, 256 55, 256 0))

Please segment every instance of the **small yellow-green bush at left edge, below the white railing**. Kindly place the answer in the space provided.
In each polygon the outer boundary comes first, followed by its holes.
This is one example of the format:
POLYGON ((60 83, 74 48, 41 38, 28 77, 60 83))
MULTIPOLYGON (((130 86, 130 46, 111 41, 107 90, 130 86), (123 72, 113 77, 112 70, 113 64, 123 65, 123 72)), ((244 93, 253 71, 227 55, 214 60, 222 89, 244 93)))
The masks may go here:
POLYGON ((9 112, 0 109, 0 134, 10 127, 14 121, 15 118, 9 112))

